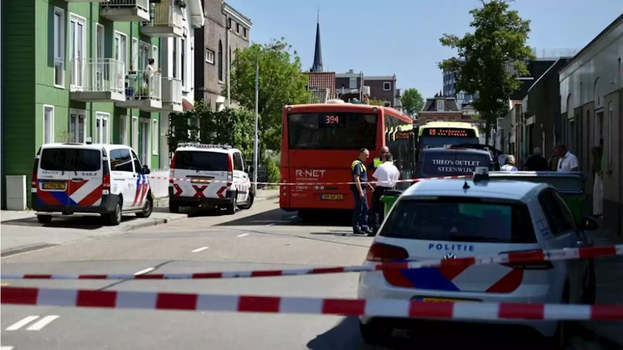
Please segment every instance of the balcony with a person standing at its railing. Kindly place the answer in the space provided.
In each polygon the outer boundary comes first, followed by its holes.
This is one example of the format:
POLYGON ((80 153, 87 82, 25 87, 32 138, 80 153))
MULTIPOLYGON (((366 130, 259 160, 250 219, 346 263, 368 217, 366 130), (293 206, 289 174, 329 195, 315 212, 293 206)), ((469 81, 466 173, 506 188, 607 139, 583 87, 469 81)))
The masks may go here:
POLYGON ((121 108, 136 108, 142 111, 162 109, 162 80, 160 72, 154 70, 133 70, 125 76, 125 100, 117 102, 121 108))

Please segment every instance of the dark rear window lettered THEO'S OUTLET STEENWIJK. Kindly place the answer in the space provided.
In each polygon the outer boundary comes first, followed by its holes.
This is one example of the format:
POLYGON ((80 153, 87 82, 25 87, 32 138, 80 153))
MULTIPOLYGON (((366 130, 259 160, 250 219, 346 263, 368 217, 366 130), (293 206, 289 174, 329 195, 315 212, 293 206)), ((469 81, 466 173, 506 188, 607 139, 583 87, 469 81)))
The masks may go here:
POLYGON ((487 153, 472 151, 425 151, 422 154, 423 176, 472 174, 477 166, 490 166, 487 153))

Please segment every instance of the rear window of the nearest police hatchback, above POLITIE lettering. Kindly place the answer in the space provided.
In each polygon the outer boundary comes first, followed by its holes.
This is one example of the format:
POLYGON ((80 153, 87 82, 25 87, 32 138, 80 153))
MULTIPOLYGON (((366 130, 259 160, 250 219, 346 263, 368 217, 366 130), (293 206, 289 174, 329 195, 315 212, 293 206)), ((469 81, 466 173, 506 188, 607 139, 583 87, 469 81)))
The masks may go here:
POLYGON ((466 197, 396 203, 381 236, 449 242, 536 243, 528 207, 466 197))

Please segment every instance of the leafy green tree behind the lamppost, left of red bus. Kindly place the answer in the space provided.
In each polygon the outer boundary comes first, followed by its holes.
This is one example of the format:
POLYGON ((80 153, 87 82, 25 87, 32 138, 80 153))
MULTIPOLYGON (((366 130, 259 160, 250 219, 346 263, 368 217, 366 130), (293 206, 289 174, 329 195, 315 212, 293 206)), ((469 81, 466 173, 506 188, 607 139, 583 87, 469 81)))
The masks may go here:
MULTIPOLYGON (((259 123, 260 143, 268 149, 280 149, 282 110, 284 105, 310 103, 308 77, 301 70, 297 52, 275 40, 269 44, 252 44, 235 55, 231 69, 231 98, 247 110, 255 110, 255 68, 259 60, 259 123)), ((227 89, 227 87, 225 87, 227 89)), ((254 120, 248 121, 254 125, 254 120)), ((253 138, 251 139, 253 140, 253 138)))

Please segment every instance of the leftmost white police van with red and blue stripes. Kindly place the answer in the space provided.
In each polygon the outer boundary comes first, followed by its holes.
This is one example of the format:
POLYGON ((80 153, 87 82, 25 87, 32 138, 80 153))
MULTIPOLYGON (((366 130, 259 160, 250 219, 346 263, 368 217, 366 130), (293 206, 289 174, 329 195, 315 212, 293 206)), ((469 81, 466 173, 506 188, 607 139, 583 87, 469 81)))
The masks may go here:
POLYGON ((149 173, 124 144, 44 144, 32 170, 32 207, 41 224, 56 215, 99 214, 109 225, 120 224, 123 214, 149 217, 149 173))

